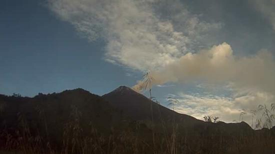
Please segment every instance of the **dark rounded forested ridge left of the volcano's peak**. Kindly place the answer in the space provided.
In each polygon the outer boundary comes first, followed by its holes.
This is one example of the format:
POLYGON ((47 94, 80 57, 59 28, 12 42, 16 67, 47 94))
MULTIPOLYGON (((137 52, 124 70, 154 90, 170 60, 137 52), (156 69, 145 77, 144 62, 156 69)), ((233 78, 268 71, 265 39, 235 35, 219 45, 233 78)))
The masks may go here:
POLYGON ((1 121, 11 126, 16 124, 14 121, 18 114, 23 114, 28 121, 38 120, 38 114, 46 115, 46 120, 54 125, 66 121, 75 112, 81 114, 84 120, 97 124, 104 120, 112 122, 118 114, 109 102, 81 88, 52 94, 40 93, 33 98, 0 95, 0 102, 4 104, 1 121))

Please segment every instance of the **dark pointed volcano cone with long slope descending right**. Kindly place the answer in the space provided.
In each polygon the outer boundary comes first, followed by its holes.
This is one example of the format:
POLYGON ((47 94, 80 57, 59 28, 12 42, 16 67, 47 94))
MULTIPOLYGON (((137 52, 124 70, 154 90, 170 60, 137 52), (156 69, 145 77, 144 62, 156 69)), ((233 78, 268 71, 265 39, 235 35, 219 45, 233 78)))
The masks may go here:
POLYGON ((175 123, 182 127, 192 127, 197 129, 198 127, 211 127, 211 125, 216 127, 218 125, 220 127, 228 128, 229 130, 234 130, 236 128, 236 131, 243 129, 247 132, 252 130, 252 128, 245 122, 212 123, 196 119, 190 115, 175 112, 148 99, 144 95, 132 90, 127 86, 119 86, 113 91, 102 95, 102 97, 109 101, 114 108, 120 110, 125 115, 128 115, 131 119, 134 120, 151 120, 150 105, 152 104, 153 119, 155 123, 160 123, 161 120, 163 120, 164 122, 167 122, 167 124, 172 124, 172 119, 174 116, 175 123))

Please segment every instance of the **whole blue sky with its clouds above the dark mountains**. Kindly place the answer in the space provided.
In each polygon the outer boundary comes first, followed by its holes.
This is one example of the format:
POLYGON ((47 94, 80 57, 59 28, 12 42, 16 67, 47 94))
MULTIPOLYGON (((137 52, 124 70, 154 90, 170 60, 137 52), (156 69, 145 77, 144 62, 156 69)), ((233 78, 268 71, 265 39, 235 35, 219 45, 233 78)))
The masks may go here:
POLYGON ((251 123, 275 93, 275 0, 1 0, 0 93, 142 91, 251 123), (246 114, 240 117, 240 113, 246 114))

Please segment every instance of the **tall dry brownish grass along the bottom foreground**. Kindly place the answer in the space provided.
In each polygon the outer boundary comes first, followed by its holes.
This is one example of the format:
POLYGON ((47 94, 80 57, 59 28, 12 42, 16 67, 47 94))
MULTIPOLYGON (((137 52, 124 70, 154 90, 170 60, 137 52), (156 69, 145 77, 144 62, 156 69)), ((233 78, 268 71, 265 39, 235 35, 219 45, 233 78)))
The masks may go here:
MULTIPOLYGON (((156 101, 156 100, 155 100, 156 101)), ((264 107, 264 106, 263 106, 264 107)), ((186 127, 184 123, 161 122, 155 129, 155 140, 146 137, 145 121, 128 121, 128 129, 115 129, 103 133, 92 123, 88 131, 81 124, 82 112, 71 107, 63 125, 62 137, 55 142, 48 132, 45 112, 37 107, 43 129, 31 125, 23 113, 17 114, 18 126, 0 130, 0 153, 274 153, 274 134, 270 131, 237 129, 224 132, 219 123, 207 127, 186 127), (170 125, 172 123, 172 125, 170 125), (132 127, 132 128, 130 128, 132 127), (43 132, 46 132, 45 134, 43 132)), ((263 110, 264 111, 264 108, 263 110)), ((159 111, 160 112, 160 111, 159 111)), ((160 116, 160 114, 159 114, 160 116)), ((264 116, 267 116, 264 114, 264 116)), ((268 116, 271 116, 268 114, 268 116)), ((175 116, 173 116, 175 118, 175 116)))

